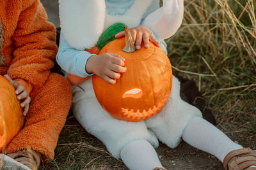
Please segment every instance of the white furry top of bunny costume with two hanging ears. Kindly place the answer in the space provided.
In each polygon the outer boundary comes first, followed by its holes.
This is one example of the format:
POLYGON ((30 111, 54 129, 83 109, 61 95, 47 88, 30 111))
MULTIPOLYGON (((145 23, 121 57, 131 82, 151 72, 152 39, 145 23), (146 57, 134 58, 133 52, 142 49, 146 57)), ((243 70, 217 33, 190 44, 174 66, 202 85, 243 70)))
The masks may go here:
POLYGON ((163 0, 163 6, 140 23, 152 0, 135 0, 124 15, 116 16, 108 15, 105 0, 59 0, 59 3, 61 32, 68 44, 78 50, 92 48, 102 32, 116 22, 129 27, 141 24, 159 39, 170 38, 179 29, 184 13, 183 0, 163 0))

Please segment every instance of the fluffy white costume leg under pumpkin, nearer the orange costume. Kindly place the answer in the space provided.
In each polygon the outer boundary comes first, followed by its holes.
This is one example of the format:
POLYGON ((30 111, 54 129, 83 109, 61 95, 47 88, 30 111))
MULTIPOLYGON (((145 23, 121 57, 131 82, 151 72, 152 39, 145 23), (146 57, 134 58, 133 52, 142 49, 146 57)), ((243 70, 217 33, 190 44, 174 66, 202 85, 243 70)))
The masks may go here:
POLYGON ((100 139, 114 157, 119 159, 122 148, 134 140, 145 139, 154 147, 158 146, 156 136, 148 131, 145 122, 117 120, 102 109, 93 91, 92 78, 72 90, 73 112, 78 122, 100 139))

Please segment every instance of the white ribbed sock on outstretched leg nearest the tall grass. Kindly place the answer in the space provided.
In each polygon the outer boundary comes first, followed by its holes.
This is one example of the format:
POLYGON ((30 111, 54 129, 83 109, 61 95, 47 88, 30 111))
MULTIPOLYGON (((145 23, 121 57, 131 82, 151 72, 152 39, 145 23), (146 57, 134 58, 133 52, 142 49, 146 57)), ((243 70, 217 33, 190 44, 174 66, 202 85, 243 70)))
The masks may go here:
POLYGON ((203 118, 194 117, 183 131, 182 138, 189 145, 211 153, 223 162, 232 150, 243 148, 231 141, 223 132, 203 118))

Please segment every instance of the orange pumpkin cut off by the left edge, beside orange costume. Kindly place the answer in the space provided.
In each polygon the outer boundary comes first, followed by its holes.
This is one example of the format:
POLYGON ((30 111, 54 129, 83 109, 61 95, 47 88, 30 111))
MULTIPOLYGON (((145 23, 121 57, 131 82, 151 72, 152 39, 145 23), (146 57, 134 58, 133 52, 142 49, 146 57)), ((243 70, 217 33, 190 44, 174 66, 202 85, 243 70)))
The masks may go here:
POLYGON ((0 152, 20 131, 24 117, 15 89, 3 76, 0 76, 0 152))

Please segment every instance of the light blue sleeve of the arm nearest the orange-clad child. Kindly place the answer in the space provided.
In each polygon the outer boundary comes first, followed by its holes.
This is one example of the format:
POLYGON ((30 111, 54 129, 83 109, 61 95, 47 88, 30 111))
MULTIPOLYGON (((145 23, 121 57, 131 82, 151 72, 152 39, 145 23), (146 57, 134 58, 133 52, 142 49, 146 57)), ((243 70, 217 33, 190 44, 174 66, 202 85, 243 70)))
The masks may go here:
POLYGON ((60 45, 56 56, 56 61, 60 65, 61 69, 67 73, 74 74, 80 77, 91 76, 85 71, 87 60, 95 54, 79 51, 76 48, 72 48, 68 45, 63 34, 60 34, 60 45))

